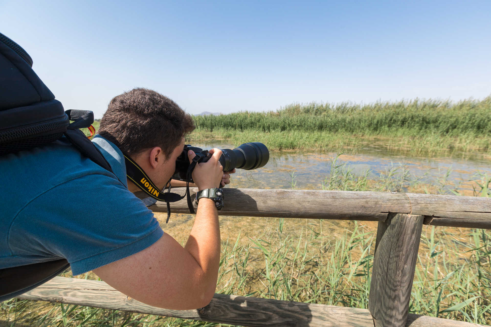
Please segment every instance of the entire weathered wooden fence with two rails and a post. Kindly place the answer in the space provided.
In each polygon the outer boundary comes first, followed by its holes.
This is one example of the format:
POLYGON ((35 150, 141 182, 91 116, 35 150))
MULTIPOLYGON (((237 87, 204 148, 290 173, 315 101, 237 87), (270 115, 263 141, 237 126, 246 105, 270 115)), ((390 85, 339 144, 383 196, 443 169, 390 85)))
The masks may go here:
MULTIPOLYGON (((191 191, 195 195, 197 190, 191 191)), ((369 309, 215 294, 204 308, 166 310, 133 300, 102 281, 65 277, 55 277, 20 298, 239 326, 482 326, 408 314, 408 308, 422 226, 491 229, 491 199, 308 190, 224 189, 224 193, 226 206, 220 215, 378 221, 369 309)), ((167 211, 162 202, 152 208, 167 211)), ((186 199, 171 205, 171 211, 189 213, 186 199)))

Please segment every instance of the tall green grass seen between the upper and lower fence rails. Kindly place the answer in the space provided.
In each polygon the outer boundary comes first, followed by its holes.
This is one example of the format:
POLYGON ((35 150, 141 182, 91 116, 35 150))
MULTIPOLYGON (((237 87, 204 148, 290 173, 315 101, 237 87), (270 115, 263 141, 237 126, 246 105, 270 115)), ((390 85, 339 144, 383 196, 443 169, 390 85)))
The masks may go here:
MULTIPOLYGON (((368 308, 374 231, 354 222, 332 239, 320 221, 292 236, 282 224, 274 238, 225 247, 222 292, 368 308), (257 257, 264 263, 250 267, 257 257)), ((409 312, 490 324, 490 236, 487 230, 424 226, 409 312)))

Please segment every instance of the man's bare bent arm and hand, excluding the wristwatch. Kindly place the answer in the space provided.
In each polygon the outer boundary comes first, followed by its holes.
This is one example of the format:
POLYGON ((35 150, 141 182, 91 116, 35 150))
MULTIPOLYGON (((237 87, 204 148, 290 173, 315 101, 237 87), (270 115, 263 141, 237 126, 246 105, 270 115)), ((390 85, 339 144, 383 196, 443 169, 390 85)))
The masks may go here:
MULTIPOLYGON (((196 165, 193 179, 198 189, 218 185, 223 175, 220 154, 218 150, 213 160, 196 165)), ((214 201, 201 199, 184 248, 164 234, 149 248, 94 273, 140 302, 168 309, 195 309, 207 305, 215 293, 219 256, 218 212, 214 201)))

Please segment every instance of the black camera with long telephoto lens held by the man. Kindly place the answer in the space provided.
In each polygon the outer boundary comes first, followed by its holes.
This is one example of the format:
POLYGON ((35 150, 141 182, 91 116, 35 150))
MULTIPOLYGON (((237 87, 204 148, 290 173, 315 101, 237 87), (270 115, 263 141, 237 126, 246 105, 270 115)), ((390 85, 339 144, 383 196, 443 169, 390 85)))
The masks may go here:
MULTIPOLYGON (((208 150, 192 147, 190 144, 184 146, 184 150, 176 159, 176 170, 173 179, 193 182, 191 174, 187 178, 188 169, 190 166, 188 151, 194 151, 199 156, 197 163, 207 162, 211 158, 211 153, 208 150)), ((221 149, 221 156, 218 159, 223 167, 224 172, 229 172, 234 168, 240 169, 257 169, 268 163, 270 152, 268 148, 260 142, 244 143, 241 146, 231 149, 221 149)))

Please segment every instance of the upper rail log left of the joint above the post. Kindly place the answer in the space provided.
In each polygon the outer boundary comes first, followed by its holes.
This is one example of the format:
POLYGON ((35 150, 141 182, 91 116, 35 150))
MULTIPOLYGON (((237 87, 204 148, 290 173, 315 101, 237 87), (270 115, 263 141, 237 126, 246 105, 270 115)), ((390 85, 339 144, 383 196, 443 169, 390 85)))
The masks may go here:
MULTIPOLYGON (((175 190, 180 194, 185 192, 185 188, 175 190)), ((196 190, 191 189, 193 200, 196 190)), ((388 212, 410 211, 408 198, 402 193, 230 188, 223 192, 225 207, 220 215, 224 216, 378 221, 385 220, 388 212)), ((170 205, 171 212, 189 213, 186 199, 170 205)), ((165 202, 157 202, 151 209, 167 212, 165 202)))

